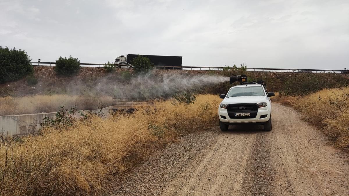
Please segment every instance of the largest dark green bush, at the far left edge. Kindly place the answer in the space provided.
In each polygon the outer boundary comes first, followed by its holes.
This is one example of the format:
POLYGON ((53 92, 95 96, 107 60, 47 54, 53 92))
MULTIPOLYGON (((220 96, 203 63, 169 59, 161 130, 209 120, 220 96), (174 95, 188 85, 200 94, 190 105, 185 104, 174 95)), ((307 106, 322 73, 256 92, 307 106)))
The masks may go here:
POLYGON ((0 46, 0 83, 20 80, 33 74, 31 59, 25 51, 0 46))

